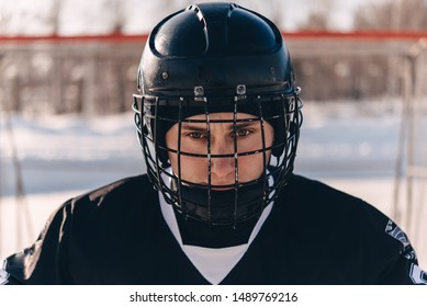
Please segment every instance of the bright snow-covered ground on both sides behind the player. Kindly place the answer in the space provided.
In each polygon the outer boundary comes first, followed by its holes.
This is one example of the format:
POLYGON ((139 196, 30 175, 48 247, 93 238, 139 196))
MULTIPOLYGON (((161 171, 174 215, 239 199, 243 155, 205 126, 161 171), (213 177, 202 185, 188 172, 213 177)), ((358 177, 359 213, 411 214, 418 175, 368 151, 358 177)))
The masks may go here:
MULTIPOLYGON (((306 103, 295 172, 355 194, 393 216, 401 123, 396 110, 382 103, 306 103)), ((103 117, 15 115, 13 140, 25 192, 23 200, 16 200, 11 134, 4 122, 1 117, 0 259, 31 243, 47 216, 67 198, 144 171, 131 113, 103 117)), ((405 206, 403 187, 400 208, 405 206)), ((413 212, 417 223, 402 219, 401 226, 409 232, 426 269, 427 228, 422 220, 426 220, 427 209, 413 212)))

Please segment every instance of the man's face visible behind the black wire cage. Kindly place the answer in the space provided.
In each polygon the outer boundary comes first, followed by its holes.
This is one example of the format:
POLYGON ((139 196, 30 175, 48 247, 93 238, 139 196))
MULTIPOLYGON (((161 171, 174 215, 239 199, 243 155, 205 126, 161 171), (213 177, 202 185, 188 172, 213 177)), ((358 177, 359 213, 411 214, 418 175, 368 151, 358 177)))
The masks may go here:
MULTIPOLYGON (((237 120, 257 118, 245 113, 237 113, 237 120)), ((205 121, 205 115, 194 115, 189 120, 205 121)), ((233 113, 212 113, 211 121, 232 121, 233 113)), ((168 148, 178 150, 178 124, 173 125, 166 134, 168 148)), ((190 154, 207 155, 207 130, 205 123, 182 123, 181 124, 180 151, 190 154)), ((272 126, 263 122, 265 147, 273 143, 274 130, 272 126)), ((239 156, 238 182, 248 182, 258 179, 265 169, 262 154, 262 128, 260 121, 237 122, 236 132, 233 123, 210 123, 211 155, 234 155, 236 137, 237 152, 259 150, 252 155, 239 156)), ((270 159, 271 151, 266 152, 266 163, 270 159)), ((207 158, 180 155, 181 179, 198 184, 207 184, 207 158)), ((178 174, 178 155, 169 151, 169 159, 175 174, 178 174)), ((211 184, 228 185, 235 183, 235 159, 234 157, 211 158, 211 184)), ((221 189, 221 187, 217 187, 221 189)))

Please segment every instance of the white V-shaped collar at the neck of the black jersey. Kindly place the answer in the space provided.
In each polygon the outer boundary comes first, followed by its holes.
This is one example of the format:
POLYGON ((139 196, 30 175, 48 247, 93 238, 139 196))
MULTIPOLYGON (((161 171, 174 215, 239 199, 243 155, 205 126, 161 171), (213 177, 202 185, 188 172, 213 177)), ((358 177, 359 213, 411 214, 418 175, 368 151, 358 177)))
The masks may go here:
POLYGON ((200 274, 209 281, 211 284, 217 285, 233 268, 240 261, 241 257, 248 250, 250 243, 257 237, 261 226, 269 216, 273 203, 269 204, 262 212, 258 223, 255 225, 252 232, 250 234, 249 240, 245 245, 227 247, 227 248, 204 248, 196 246, 188 246, 182 243, 181 234, 179 232, 177 218, 175 211, 171 205, 167 204, 164 195, 159 192, 160 209, 172 231, 176 240, 180 245, 182 251, 189 258, 191 263, 198 269, 200 274))

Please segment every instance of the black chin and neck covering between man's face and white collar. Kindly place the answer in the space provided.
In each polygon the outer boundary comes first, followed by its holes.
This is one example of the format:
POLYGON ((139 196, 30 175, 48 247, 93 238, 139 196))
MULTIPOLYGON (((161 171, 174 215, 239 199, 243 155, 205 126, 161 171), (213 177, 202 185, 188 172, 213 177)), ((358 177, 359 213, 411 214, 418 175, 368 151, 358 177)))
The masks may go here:
MULTIPOLYGON (((171 187, 178 192, 177 181, 171 187)), ((237 208, 234 189, 180 186, 181 203, 173 204, 183 245, 226 248, 248 243, 263 209, 262 181, 238 190, 237 208)))

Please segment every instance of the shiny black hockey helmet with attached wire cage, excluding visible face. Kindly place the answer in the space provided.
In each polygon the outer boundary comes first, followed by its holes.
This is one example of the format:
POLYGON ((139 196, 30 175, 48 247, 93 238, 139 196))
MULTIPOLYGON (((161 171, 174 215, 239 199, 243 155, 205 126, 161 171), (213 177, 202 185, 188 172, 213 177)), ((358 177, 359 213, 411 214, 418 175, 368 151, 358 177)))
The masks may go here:
MULTIPOLYGON (((154 186, 179 213, 212 225, 237 225, 259 216, 293 170, 302 123, 299 94, 281 33, 265 16, 225 2, 193 4, 167 16, 146 42, 133 104, 154 186), (180 170, 170 168, 168 152, 190 154, 165 143, 171 126, 180 127, 195 114, 205 115, 209 130, 209 114, 216 112, 233 112, 234 127, 239 112, 255 115, 261 127, 268 122, 274 128, 271 147, 234 152, 236 181, 220 189, 226 191, 180 178, 180 170), (263 152, 266 160, 267 150, 272 157, 260 178, 238 182, 237 157, 263 152)), ((210 143, 198 157, 211 159, 209 152, 210 143)))

